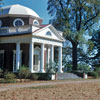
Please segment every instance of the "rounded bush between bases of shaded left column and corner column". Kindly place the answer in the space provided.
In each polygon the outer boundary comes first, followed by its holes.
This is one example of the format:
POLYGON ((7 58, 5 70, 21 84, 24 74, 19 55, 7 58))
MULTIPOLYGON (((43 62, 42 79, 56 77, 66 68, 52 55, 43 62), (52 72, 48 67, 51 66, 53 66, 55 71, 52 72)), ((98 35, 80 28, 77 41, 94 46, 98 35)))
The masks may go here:
POLYGON ((20 69, 18 70, 18 77, 20 78, 20 81, 22 81, 22 79, 28 78, 30 76, 31 72, 29 70, 28 67, 26 66, 21 66, 20 69))

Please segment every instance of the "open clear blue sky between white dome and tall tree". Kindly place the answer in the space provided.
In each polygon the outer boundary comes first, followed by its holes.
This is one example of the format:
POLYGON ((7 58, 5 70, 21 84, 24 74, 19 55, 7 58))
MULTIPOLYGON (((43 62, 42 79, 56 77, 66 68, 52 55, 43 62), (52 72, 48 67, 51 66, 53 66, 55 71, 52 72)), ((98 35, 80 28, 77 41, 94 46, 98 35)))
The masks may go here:
POLYGON ((48 0, 3 0, 3 6, 21 4, 34 10, 42 19, 43 24, 48 24, 50 15, 47 11, 48 0))

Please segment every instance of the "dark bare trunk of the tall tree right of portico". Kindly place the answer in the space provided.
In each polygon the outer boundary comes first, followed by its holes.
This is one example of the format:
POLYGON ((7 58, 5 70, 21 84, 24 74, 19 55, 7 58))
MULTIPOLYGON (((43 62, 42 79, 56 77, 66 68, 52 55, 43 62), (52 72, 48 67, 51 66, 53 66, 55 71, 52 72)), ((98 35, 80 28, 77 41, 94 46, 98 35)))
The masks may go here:
POLYGON ((77 70, 77 43, 72 43, 72 62, 73 62, 73 70, 77 70))

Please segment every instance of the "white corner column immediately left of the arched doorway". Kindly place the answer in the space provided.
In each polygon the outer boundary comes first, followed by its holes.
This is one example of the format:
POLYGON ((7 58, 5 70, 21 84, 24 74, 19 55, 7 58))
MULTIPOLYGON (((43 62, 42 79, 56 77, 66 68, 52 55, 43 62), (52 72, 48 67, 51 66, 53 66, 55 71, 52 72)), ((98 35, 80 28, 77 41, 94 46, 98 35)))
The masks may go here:
POLYGON ((30 50, 29 50, 29 68, 31 73, 34 72, 33 70, 33 60, 34 60, 34 43, 30 43, 30 50))

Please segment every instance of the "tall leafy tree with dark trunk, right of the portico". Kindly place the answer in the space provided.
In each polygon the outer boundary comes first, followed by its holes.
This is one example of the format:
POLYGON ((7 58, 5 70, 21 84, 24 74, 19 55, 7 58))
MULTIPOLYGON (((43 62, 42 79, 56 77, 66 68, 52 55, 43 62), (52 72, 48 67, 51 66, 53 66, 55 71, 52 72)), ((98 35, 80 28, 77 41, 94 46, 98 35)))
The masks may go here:
MULTIPOLYGON (((72 44, 73 70, 77 70, 77 48, 84 42, 84 34, 92 33, 99 20, 100 0, 48 0, 50 20, 72 44)), ((91 42, 89 43, 91 45, 91 42)))

